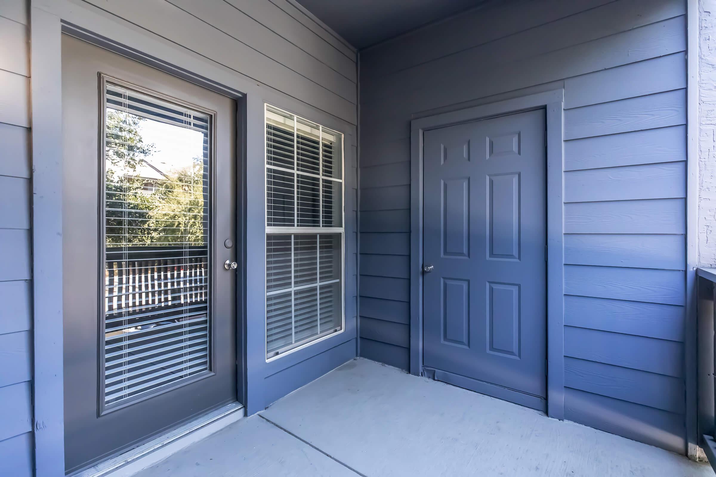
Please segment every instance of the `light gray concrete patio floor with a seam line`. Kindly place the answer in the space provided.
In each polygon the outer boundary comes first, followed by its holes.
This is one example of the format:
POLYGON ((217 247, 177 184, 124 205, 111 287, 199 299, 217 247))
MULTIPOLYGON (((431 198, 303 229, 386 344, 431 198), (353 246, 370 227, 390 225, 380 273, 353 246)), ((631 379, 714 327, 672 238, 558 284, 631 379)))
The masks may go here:
POLYGON ((136 474, 713 475, 684 456, 361 358, 136 474))

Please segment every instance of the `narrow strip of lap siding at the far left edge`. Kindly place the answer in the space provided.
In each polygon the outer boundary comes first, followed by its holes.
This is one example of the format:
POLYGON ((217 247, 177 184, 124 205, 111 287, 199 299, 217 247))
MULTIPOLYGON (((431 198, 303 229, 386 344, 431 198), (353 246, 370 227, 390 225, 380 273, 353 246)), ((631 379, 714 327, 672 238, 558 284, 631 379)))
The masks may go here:
POLYGON ((0 475, 32 475, 29 55, 25 0, 0 3, 0 475))

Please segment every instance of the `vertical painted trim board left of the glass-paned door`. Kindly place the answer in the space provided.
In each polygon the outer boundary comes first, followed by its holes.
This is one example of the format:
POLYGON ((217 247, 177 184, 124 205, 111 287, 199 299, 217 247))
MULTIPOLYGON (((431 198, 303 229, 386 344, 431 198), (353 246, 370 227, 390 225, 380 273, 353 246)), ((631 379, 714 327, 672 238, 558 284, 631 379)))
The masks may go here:
MULTIPOLYGON (((32 2, 34 471, 64 474, 62 369, 62 55, 59 17, 32 2)), ((31 417, 32 419, 32 417, 31 417)))

